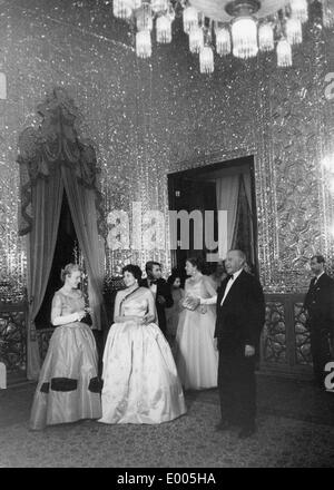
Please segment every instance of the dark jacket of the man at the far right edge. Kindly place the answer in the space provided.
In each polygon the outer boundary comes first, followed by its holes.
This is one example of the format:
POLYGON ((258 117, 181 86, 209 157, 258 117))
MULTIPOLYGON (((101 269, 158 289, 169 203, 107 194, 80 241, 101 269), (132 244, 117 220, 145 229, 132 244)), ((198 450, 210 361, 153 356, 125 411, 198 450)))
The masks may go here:
POLYGON ((314 283, 315 277, 310 283, 304 301, 304 307, 308 313, 306 326, 334 331, 334 281, 324 273, 316 284, 314 283))

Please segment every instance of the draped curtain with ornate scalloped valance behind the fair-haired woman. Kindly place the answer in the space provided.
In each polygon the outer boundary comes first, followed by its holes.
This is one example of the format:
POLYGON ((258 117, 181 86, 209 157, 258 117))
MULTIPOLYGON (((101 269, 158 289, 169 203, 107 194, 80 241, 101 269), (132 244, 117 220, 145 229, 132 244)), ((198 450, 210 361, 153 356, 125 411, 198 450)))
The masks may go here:
MULTIPOLYGON (((51 271, 63 192, 82 251, 88 274, 92 327, 101 330, 104 278, 104 209, 91 141, 78 139, 78 109, 63 88, 56 88, 38 114, 38 129, 29 127, 19 137, 21 178, 19 233, 28 239, 27 376, 40 369, 35 318, 42 304, 51 271)), ((104 320, 102 317, 102 320, 104 320)))

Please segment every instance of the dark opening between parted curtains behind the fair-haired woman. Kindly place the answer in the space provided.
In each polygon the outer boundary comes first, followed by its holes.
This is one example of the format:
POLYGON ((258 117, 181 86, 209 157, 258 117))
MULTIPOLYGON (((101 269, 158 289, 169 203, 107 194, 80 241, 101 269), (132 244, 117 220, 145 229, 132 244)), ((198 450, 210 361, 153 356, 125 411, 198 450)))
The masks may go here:
POLYGON ((58 235, 57 235, 51 272, 48 281, 47 291, 43 297, 43 302, 35 320, 35 324, 37 329, 52 327, 50 321, 52 298, 55 292, 62 286, 62 282, 60 280, 60 271, 66 264, 69 264, 70 262, 76 262, 76 249, 78 251, 77 235, 71 218, 67 195, 66 192, 63 190, 58 235))

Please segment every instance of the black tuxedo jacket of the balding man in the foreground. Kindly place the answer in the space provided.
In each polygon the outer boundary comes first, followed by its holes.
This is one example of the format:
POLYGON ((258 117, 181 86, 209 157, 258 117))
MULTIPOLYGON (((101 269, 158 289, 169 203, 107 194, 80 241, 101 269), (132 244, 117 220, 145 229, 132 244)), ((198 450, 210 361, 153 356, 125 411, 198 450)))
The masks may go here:
POLYGON ((243 271, 220 305, 228 282, 226 277, 217 291, 215 337, 220 353, 244 355, 245 345, 259 353, 259 335, 265 322, 265 301, 259 282, 243 271))

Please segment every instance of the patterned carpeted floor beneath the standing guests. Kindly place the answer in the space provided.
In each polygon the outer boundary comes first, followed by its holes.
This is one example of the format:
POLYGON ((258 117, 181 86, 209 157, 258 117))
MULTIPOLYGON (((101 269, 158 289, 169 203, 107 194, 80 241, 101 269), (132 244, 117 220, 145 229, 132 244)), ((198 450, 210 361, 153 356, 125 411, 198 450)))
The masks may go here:
POLYGON ((160 425, 95 421, 28 429, 35 384, 0 391, 1 468, 334 468, 334 393, 258 376, 258 432, 219 433, 216 390, 186 393, 188 413, 160 425))

